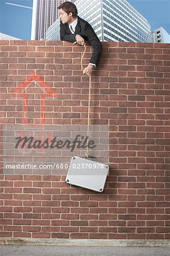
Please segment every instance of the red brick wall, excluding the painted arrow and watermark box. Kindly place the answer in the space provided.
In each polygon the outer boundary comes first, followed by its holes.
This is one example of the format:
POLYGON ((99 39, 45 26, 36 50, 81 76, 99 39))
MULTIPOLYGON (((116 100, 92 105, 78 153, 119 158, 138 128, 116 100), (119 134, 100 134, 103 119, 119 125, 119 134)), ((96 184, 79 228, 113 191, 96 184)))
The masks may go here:
MULTIPOLYGON (((20 100, 10 105, 10 93, 35 70, 62 94, 59 105, 48 106, 46 122, 86 124, 89 84, 80 67, 82 47, 0 44, 1 127, 22 123, 20 100)), ((84 63, 91 53, 88 45, 84 63)), ((1 174, 1 237, 170 238, 169 53, 169 44, 103 43, 92 75, 91 123, 110 126, 104 192, 69 186, 60 175, 1 174)), ((2 142, 2 131, 0 136, 2 142)))

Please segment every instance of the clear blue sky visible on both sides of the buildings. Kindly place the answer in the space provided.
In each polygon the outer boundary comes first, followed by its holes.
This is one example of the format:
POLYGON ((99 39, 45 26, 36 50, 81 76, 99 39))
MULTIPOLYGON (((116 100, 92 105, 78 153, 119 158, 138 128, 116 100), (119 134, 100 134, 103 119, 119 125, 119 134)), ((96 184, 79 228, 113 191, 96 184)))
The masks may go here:
MULTIPOLYGON (((170 34, 170 0, 127 0, 151 24, 170 34)), ((5 2, 32 7, 32 0, 0 0, 0 32, 23 40, 31 39, 32 10, 5 2)))

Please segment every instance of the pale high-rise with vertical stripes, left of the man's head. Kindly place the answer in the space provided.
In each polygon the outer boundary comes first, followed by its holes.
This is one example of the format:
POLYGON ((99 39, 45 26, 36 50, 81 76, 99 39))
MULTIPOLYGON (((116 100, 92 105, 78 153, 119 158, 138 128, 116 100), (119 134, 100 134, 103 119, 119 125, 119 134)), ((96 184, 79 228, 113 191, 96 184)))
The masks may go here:
POLYGON ((31 40, 45 39, 45 32, 59 18, 57 7, 71 0, 33 0, 31 40))

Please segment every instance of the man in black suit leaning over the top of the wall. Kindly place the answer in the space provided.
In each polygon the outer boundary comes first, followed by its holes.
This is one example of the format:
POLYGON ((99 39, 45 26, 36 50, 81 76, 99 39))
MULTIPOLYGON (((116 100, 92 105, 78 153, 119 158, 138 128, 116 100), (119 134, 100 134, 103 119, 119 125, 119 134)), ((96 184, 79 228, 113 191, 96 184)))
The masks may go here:
POLYGON ((68 42, 77 42, 84 46, 85 40, 93 46, 90 63, 84 69, 83 74, 90 76, 92 70, 98 64, 102 52, 102 44, 95 34, 92 26, 77 15, 74 3, 64 2, 59 7, 60 13, 60 39, 68 42))

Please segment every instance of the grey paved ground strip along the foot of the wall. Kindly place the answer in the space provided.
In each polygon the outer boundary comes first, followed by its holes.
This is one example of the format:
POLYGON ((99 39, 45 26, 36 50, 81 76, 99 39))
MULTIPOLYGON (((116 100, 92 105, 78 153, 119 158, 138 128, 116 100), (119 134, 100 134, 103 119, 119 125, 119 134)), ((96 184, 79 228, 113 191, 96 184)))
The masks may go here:
POLYGON ((0 245, 1 256, 170 256, 167 247, 78 247, 0 245))

